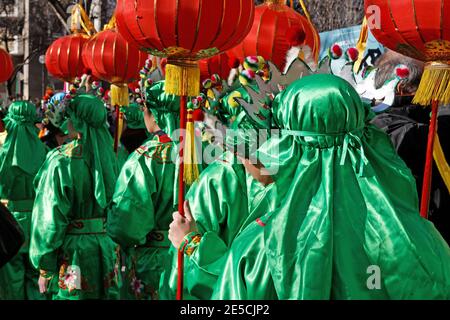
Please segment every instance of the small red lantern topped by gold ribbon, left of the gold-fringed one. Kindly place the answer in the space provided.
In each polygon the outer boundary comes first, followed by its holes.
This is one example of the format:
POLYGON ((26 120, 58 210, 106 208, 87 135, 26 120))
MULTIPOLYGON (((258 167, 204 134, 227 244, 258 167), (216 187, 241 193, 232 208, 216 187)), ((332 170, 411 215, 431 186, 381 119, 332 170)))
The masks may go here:
POLYGON ((73 82, 81 77, 85 65, 81 58, 84 44, 95 34, 95 28, 86 12, 80 5, 72 10, 72 34, 53 42, 45 54, 45 66, 48 72, 57 79, 73 82))

